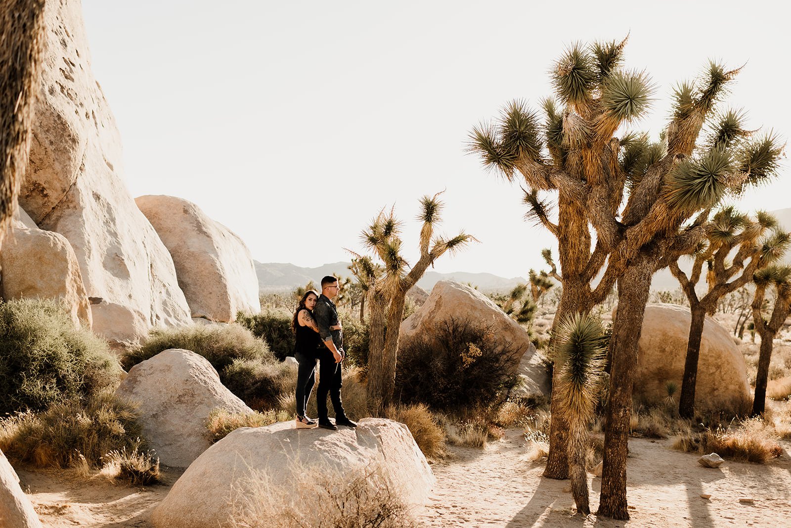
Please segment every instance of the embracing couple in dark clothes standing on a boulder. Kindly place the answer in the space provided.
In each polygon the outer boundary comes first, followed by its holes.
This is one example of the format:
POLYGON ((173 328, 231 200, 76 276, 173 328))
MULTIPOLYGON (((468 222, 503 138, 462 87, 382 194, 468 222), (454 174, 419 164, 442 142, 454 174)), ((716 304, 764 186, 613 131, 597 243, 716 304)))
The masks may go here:
POLYGON ((297 334, 294 358, 299 363, 297 370, 297 429, 316 427, 316 420, 305 415, 305 407, 316 383, 316 360, 319 361, 319 386, 316 389, 316 412, 318 425, 336 430, 339 425, 357 427, 343 411, 341 403, 341 362, 343 351, 343 327, 338 310, 332 302, 338 295, 338 279, 327 275, 321 279, 321 294, 308 290, 302 296, 294 313, 291 325, 297 334), (327 416, 327 393, 335 409, 335 424, 327 416))

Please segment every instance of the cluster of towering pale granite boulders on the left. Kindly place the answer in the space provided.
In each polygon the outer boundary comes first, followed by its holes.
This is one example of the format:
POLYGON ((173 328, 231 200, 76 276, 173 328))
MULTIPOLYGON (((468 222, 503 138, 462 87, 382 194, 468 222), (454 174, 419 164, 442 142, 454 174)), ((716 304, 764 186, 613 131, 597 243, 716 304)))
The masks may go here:
POLYGON ((135 200, 121 141, 93 78, 79 2, 47 2, 46 55, 19 198, 0 255, 0 296, 55 298, 115 348, 154 326, 257 312, 244 242, 194 203, 135 200))

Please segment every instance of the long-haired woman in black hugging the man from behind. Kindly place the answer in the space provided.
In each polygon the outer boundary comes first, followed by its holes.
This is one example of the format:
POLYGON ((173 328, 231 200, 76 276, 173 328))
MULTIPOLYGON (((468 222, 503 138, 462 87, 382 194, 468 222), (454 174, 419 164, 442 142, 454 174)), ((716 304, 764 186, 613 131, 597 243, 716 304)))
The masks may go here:
POLYGON ((297 429, 316 427, 316 420, 305 415, 310 393, 316 384, 316 359, 321 338, 316 321, 313 320, 313 307, 319 294, 308 290, 302 295, 299 306, 294 312, 291 328, 297 334, 294 345, 294 358, 299 363, 297 370, 297 429))

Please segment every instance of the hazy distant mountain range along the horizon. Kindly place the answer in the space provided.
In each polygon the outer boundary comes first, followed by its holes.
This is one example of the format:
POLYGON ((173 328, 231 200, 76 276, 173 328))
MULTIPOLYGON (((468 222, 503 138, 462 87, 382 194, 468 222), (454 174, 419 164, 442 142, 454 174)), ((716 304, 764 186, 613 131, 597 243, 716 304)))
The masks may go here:
MULTIPOLYGON (((771 212, 778 218, 780 225, 785 230, 791 230, 791 208, 771 212)), ((786 260, 791 262, 791 258, 789 257, 787 257, 786 260)), ((310 280, 314 283, 318 283, 324 275, 349 276, 351 275, 349 271, 350 264, 350 262, 334 262, 332 264, 324 264, 318 268, 301 268, 294 264, 280 264, 274 262, 264 264, 255 261, 255 273, 258 275, 260 291, 282 291, 297 286, 305 286, 310 280)), ((418 286, 430 292, 434 284, 441 280, 470 283, 473 286, 477 286, 481 291, 507 291, 518 283, 527 282, 527 279, 524 277, 505 279, 504 277, 498 277, 498 275, 492 275, 491 273, 426 272, 426 275, 423 275, 423 278, 418 281, 418 286)), ((652 290, 675 290, 677 287, 679 287, 678 281, 667 268, 653 275, 653 281, 651 283, 652 290)))

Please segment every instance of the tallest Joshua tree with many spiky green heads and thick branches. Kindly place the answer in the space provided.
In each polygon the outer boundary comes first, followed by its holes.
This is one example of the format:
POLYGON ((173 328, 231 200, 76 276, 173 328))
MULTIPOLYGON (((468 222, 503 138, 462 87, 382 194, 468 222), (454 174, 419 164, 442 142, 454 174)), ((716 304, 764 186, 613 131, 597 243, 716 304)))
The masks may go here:
MULTIPOLYGON (((739 70, 710 63, 698 82, 679 85, 672 120, 658 142, 623 133, 624 123, 649 107, 648 75, 621 67, 625 41, 580 44, 554 64, 552 81, 562 109, 543 101, 545 126, 536 112, 517 101, 506 106, 496 126, 472 132, 472 149, 486 165, 508 177, 524 177, 525 199, 534 215, 558 237, 563 295, 556 317, 587 313, 617 279, 619 305, 609 355, 611 382, 606 409, 604 469, 599 514, 629 519, 626 503, 626 442, 632 382, 651 277, 678 255, 692 253, 704 237, 702 224, 726 193, 769 179, 782 146, 772 135, 711 148, 698 143, 725 85, 739 70), (551 222, 540 191, 558 192, 558 222, 551 222), (628 191, 628 192, 626 192, 628 191), (626 203, 623 198, 628 196, 626 203), (596 230, 591 251, 588 224, 596 230), (590 287, 607 260, 603 278, 590 287)), ((734 133, 725 119, 710 137, 734 133)), ((741 131, 739 131, 741 133, 741 131)), ((551 446, 544 474, 565 477, 564 417, 552 396, 551 446), (559 420, 558 420, 559 419, 559 420), (557 433, 557 435, 555 434, 557 433)))

